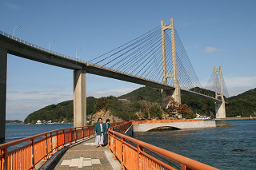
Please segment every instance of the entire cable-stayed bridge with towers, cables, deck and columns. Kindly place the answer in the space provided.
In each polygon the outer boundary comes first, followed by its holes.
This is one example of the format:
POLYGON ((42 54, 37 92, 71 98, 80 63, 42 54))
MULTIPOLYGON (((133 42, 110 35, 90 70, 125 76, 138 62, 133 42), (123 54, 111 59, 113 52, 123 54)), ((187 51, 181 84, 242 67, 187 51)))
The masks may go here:
POLYGON ((86 125, 86 73, 162 89, 162 99, 172 96, 181 102, 181 93, 205 98, 216 103, 216 117, 226 117, 223 91, 227 91, 222 88, 221 69, 214 69, 215 97, 194 91, 202 85, 173 19, 169 25, 162 21, 161 26, 90 61, 55 53, 0 31, 0 138, 5 136, 7 53, 74 70, 74 127, 86 125))

